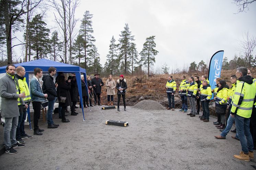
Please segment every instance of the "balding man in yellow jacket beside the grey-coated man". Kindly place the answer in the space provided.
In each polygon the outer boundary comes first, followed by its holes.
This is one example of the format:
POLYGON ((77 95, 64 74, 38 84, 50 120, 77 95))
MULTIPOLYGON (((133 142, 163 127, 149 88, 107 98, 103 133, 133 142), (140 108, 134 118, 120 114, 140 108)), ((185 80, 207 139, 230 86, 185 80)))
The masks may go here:
POLYGON ((29 102, 31 101, 30 91, 29 91, 29 88, 28 88, 28 85, 26 82, 26 78, 24 77, 25 74, 26 74, 26 70, 24 67, 18 66, 16 68, 15 77, 18 79, 20 91, 21 91, 21 93, 25 93, 25 95, 26 95, 24 98, 22 98, 23 102, 25 103, 25 106, 19 105, 20 116, 19 116, 18 126, 16 129, 16 140, 20 144, 25 143, 25 141, 23 141, 23 139, 32 138, 32 136, 27 135, 24 130, 25 119, 27 117, 27 109, 26 108, 28 107, 29 102))

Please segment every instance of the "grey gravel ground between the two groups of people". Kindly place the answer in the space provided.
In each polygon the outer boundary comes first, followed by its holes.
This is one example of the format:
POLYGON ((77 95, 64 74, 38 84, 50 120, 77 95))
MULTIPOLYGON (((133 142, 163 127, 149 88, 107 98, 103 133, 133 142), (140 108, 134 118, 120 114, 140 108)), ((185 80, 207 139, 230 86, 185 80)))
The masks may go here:
MULTIPOLYGON (((228 134, 218 140, 220 134, 210 117, 202 122, 198 116, 172 110, 140 110, 120 107, 92 111, 86 108, 85 122, 81 109, 78 116, 68 116, 69 123, 61 123, 53 115, 57 129, 47 129, 40 119, 42 136, 27 139, 26 146, 18 153, 0 156, 1 170, 253 170, 250 162, 233 158, 241 150, 240 142, 228 134), (105 120, 128 121, 128 127, 105 125, 105 120)), ((26 126, 26 133, 33 131, 26 126)), ((0 126, 1 140, 3 127, 0 126)))

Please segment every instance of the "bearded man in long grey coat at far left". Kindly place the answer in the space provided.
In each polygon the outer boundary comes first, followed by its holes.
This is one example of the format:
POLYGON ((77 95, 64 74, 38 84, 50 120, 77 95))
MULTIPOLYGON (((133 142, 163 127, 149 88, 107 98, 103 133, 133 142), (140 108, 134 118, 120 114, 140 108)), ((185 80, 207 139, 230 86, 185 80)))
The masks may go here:
POLYGON ((20 93, 18 80, 15 78, 15 66, 8 65, 6 67, 6 75, 0 80, 0 96, 1 99, 1 116, 5 119, 3 128, 3 138, 5 152, 8 154, 16 154, 14 148, 24 147, 16 141, 16 128, 19 119, 19 107, 22 105, 21 97, 25 97, 24 93, 20 93), (18 103, 18 104, 17 104, 18 103))

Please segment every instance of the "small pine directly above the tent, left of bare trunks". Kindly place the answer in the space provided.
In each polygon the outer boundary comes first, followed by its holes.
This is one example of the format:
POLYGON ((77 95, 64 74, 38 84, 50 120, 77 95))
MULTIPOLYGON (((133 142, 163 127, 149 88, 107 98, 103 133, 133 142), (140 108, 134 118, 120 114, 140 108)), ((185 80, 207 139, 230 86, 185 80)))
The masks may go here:
POLYGON ((51 56, 51 60, 56 61, 57 56, 61 52, 62 52, 62 43, 59 40, 58 32, 55 30, 51 34, 50 45, 49 45, 49 53, 51 56))

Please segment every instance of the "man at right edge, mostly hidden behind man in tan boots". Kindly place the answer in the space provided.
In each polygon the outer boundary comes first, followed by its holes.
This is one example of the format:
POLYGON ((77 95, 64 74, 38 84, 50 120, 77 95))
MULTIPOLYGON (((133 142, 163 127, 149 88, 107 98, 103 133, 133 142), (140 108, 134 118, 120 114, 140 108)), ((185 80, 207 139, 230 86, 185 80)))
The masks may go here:
MULTIPOLYGON (((251 74, 251 70, 247 70, 248 73, 247 75, 251 76, 252 77, 252 74, 251 74)), ((256 87, 256 79, 253 78, 253 84, 255 85, 256 87)), ((256 96, 256 94, 255 94, 256 96)), ((253 138, 253 146, 254 146, 254 150, 256 150, 256 102, 253 104, 253 111, 252 111, 252 116, 250 117, 250 132, 252 134, 252 138, 253 138)))

